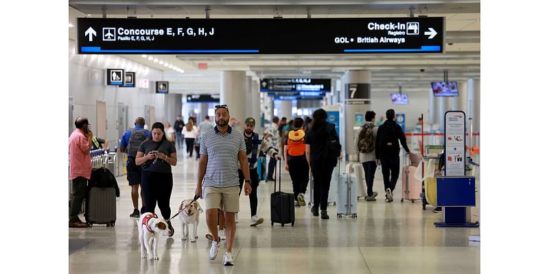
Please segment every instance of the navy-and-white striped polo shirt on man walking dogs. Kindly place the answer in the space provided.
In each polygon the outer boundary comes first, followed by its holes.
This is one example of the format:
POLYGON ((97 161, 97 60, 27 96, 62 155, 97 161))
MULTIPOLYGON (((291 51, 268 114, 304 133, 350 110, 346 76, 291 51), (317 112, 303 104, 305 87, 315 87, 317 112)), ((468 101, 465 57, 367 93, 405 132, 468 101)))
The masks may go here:
POLYGON ((216 125, 200 136, 200 155, 208 156, 203 186, 229 188, 239 186, 238 152, 246 152, 244 134, 231 126, 221 134, 216 125))

